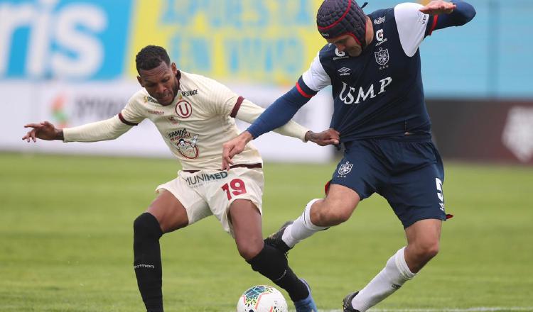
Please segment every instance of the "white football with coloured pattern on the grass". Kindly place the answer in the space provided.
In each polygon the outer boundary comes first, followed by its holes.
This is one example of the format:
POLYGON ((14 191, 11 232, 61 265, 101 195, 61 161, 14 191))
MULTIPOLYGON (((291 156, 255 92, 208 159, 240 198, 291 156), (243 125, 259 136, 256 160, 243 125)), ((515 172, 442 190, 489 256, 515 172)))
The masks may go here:
POLYGON ((237 302, 237 312, 287 312, 287 301, 274 287, 257 285, 244 291, 237 302))

